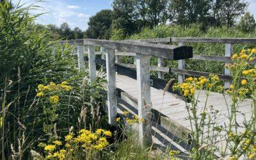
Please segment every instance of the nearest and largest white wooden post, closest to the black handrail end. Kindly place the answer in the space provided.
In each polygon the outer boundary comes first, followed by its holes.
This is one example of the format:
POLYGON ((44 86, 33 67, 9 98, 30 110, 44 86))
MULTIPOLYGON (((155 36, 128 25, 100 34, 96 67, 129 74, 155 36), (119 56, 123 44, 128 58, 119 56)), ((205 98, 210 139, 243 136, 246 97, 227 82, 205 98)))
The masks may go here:
POLYGON ((145 120, 139 124, 139 136, 142 145, 152 145, 151 134, 151 102, 149 56, 136 54, 136 70, 138 82, 138 116, 145 120))

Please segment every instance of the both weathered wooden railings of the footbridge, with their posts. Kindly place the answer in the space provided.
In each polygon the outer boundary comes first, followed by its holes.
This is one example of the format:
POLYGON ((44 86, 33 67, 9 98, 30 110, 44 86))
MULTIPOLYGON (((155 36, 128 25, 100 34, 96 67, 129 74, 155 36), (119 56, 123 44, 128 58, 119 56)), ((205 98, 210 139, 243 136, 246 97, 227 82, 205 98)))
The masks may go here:
MULTIPOLYGON (((108 117, 109 123, 116 124, 116 65, 136 68, 136 79, 138 82, 138 116, 145 120, 145 124, 140 122, 139 135, 143 142, 151 143, 151 104, 150 104, 150 70, 158 72, 158 78, 163 79, 164 72, 178 74, 179 82, 184 81, 184 76, 209 76, 208 72, 199 72, 185 69, 185 59, 220 61, 231 63, 231 56, 234 53, 234 44, 256 44, 256 38, 154 38, 147 40, 68 40, 61 43, 74 44, 77 47, 77 60, 79 68, 85 68, 84 54, 88 54, 88 66, 90 81, 96 77, 96 54, 101 54, 102 59, 106 58, 107 90, 108 90, 108 117), (165 45, 161 43, 178 43, 178 46, 165 45), (192 47, 184 46, 186 43, 212 43, 225 44, 225 56, 206 56, 193 54, 192 47), (95 47, 100 47, 100 51, 95 51, 95 47), (193 56, 192 56, 193 54, 193 56), (134 64, 120 63, 120 56, 134 56, 134 64), (157 66, 150 66, 149 56, 157 57, 157 66), (178 68, 168 68, 163 66, 163 60, 178 60, 178 68)), ((105 62, 104 62, 105 63, 105 62)), ((252 63, 255 64, 255 61, 252 63)), ((218 74, 220 79, 225 81, 228 87, 232 77, 230 71, 225 68, 224 74, 218 74)))

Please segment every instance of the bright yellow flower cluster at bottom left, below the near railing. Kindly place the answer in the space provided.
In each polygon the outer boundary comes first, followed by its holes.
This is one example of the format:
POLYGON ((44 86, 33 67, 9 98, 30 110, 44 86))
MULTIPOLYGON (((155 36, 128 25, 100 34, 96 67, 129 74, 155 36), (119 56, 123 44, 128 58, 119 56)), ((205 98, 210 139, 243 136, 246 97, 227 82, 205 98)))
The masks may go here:
POLYGON ((81 129, 77 136, 74 136, 73 132, 70 132, 65 136, 66 143, 63 146, 63 143, 59 140, 52 141, 52 144, 49 145, 40 143, 38 146, 44 147, 47 155, 45 157, 46 159, 68 159, 68 155, 74 157, 72 154, 76 154, 75 151, 78 151, 81 147, 84 152, 90 150, 103 150, 108 147, 109 142, 107 138, 111 136, 111 131, 105 129, 97 129, 95 133, 86 129, 81 129))

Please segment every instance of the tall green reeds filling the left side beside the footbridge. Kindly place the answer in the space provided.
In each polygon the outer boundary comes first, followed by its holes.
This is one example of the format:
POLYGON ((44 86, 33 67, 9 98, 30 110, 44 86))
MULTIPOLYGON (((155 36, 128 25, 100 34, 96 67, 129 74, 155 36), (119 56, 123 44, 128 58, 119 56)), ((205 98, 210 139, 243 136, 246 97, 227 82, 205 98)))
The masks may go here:
POLYGON ((38 27, 39 15, 29 14, 38 6, 0 3, 0 138, 2 159, 27 159, 29 150, 37 150, 51 134, 61 136, 70 127, 95 130, 106 127, 106 80, 97 77, 88 81, 88 73, 77 70, 72 46, 52 42, 49 31, 38 27), (55 48, 55 49, 54 49, 55 48), (38 84, 63 81, 72 86, 61 94, 49 127, 45 104, 36 97, 38 84), (93 90, 93 92, 92 92, 93 90), (93 100, 91 100, 93 99, 93 100))

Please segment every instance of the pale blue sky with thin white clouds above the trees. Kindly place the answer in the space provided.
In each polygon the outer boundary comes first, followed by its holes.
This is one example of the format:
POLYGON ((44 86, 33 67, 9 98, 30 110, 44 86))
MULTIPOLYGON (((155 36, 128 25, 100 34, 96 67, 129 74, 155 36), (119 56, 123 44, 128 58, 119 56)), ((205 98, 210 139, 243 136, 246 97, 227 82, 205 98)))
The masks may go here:
MULTIPOLYGON (((12 0, 13 3, 35 3, 31 0, 12 0)), ((246 0, 249 4, 248 11, 256 19, 256 0, 246 0)), ((36 3, 42 10, 33 13, 42 13, 36 22, 39 24, 56 24, 60 26, 68 22, 70 28, 79 27, 83 31, 88 28, 88 20, 92 15, 103 9, 111 9, 112 0, 44 0, 36 3), (44 8, 44 9, 43 9, 44 8)))

